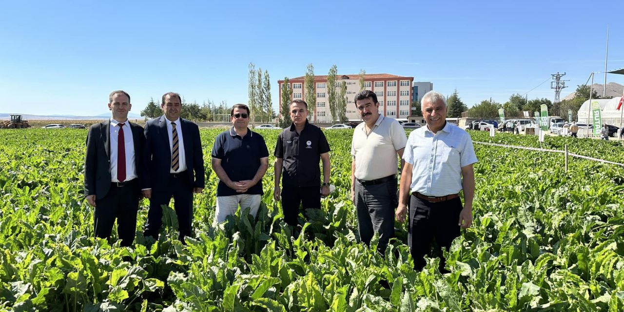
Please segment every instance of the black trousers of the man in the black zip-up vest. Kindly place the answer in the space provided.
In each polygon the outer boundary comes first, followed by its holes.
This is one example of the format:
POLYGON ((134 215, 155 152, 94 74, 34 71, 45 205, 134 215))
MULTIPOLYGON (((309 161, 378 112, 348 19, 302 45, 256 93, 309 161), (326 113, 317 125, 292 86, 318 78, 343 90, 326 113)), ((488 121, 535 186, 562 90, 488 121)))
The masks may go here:
POLYGON ((293 227, 298 224, 299 207, 303 210, 321 208, 321 187, 284 187, 281 189, 281 208, 284 221, 293 227))

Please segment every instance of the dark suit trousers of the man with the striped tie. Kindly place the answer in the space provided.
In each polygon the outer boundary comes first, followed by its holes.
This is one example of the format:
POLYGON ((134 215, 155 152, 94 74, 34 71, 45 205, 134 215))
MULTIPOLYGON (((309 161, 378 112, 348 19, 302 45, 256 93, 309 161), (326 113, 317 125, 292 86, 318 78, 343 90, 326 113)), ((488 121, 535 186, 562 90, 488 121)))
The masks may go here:
POLYGON ((193 223, 193 187, 188 182, 187 172, 169 175, 165 181, 165 188, 158 188, 159 192, 152 189, 150 198, 150 210, 147 213, 144 236, 152 236, 158 240, 158 233, 162 227, 162 205, 169 205, 173 197, 175 214, 178 217, 178 240, 184 243, 185 236, 191 236, 193 223))

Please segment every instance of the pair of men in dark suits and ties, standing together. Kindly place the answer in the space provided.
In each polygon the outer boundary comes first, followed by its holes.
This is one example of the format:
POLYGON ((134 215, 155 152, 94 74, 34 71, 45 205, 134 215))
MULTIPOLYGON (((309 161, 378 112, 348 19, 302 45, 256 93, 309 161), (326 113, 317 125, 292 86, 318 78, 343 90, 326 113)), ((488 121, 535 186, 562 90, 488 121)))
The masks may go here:
POLYGON ((108 238, 117 219, 122 246, 131 246, 137 227, 139 200, 149 198, 145 236, 158 239, 161 205, 175 202, 180 224, 178 238, 191 235, 193 193, 205 185, 199 128, 180 118, 180 94, 162 96, 163 115, 149 120, 145 129, 128 120, 130 95, 115 90, 109 95, 111 117, 94 124, 87 134, 84 189, 94 210, 94 233, 108 238))

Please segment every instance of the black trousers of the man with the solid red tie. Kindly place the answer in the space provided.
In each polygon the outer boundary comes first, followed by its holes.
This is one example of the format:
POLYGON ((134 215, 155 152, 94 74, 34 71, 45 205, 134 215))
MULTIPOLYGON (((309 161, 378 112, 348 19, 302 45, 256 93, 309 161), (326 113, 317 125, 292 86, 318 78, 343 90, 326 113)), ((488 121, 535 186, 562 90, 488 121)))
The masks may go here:
POLYGON ((93 225, 95 237, 109 238, 115 219, 117 235, 122 246, 132 246, 137 230, 137 211, 139 210, 138 180, 130 180, 124 187, 110 185, 109 193, 101 199, 95 199, 93 225))

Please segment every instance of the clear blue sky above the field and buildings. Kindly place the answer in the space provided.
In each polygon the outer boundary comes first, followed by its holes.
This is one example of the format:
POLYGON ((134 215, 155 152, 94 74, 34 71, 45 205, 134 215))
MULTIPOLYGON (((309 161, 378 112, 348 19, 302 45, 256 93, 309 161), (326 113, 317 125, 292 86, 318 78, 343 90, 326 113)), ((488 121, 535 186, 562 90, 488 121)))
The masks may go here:
POLYGON ((607 24, 608 68, 624 67, 624 1, 53 2, 0 4, 0 112, 102 114, 115 89, 137 114, 170 90, 245 103, 249 62, 268 70, 274 107, 277 80, 308 63, 431 81, 469 106, 567 72, 563 97, 604 70, 607 24))

